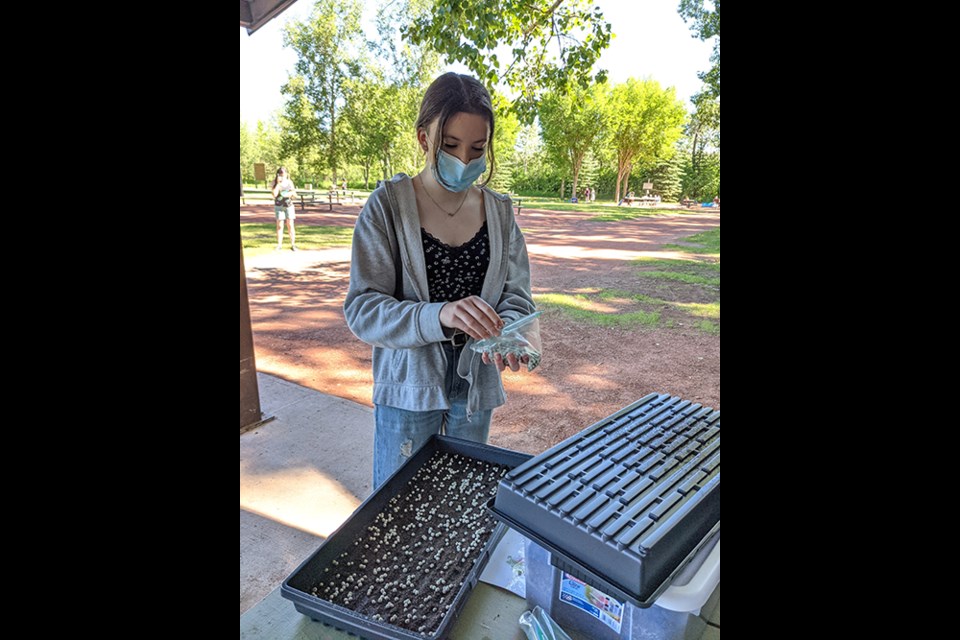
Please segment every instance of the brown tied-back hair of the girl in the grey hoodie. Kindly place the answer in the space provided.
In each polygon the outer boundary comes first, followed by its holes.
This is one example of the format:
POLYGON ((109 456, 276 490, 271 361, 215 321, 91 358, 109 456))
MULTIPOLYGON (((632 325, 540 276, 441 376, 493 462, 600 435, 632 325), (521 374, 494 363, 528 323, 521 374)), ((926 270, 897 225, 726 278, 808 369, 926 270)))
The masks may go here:
MULTIPOLYGON (((427 87, 420 103, 420 115, 417 116, 416 130, 426 129, 437 120, 437 131, 434 135, 433 148, 439 153, 443 141, 443 128, 447 120, 458 113, 473 113, 483 116, 490 124, 490 137, 487 139, 487 165, 489 172, 487 179, 480 186, 486 186, 493 177, 496 162, 493 157, 493 102, 487 88, 472 76, 459 73, 445 73, 427 87)), ((434 159, 434 162, 436 159, 434 159)))

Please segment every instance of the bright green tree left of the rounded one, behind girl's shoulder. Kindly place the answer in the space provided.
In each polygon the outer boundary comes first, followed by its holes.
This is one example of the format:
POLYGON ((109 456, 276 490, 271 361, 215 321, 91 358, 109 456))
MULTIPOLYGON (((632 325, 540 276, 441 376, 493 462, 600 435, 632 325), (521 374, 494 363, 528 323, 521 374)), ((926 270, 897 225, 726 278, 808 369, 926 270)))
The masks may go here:
POLYGON ((586 89, 573 87, 563 93, 550 92, 540 104, 544 144, 551 156, 562 163, 562 170, 572 177, 572 193, 577 192, 584 157, 603 132, 603 90, 603 85, 593 85, 586 89))

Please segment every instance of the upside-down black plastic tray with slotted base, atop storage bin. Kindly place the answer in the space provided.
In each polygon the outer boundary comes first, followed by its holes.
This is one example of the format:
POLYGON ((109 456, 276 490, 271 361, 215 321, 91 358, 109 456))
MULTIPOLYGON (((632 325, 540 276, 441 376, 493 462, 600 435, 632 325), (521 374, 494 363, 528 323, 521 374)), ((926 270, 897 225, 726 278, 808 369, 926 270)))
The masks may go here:
POLYGON ((720 412, 650 394, 509 472, 490 510, 559 569, 648 607, 720 528, 720 412))

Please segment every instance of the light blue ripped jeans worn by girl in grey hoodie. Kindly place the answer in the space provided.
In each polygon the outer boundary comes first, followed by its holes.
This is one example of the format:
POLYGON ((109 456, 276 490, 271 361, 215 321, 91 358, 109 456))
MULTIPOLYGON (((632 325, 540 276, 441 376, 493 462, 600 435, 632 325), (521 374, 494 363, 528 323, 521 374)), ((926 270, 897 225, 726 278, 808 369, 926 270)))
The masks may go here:
POLYGON ((380 487, 435 433, 486 442, 493 410, 474 411, 467 420, 467 381, 457 375, 457 361, 465 347, 444 343, 447 355, 446 411, 407 411, 378 404, 373 407, 373 489, 380 487))

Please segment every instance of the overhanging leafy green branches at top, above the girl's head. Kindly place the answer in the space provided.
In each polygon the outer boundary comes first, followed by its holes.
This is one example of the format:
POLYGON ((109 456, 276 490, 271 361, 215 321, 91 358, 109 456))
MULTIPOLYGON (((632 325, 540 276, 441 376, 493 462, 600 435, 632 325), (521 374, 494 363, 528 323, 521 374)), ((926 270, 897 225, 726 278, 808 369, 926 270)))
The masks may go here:
POLYGON ((602 82, 593 66, 610 44, 610 23, 589 0, 434 0, 433 11, 404 28, 414 43, 460 62, 487 86, 504 83, 517 94, 521 122, 533 122, 541 94, 602 82), (498 49, 498 47, 502 47, 498 49), (497 51, 509 48, 501 62, 497 51))

